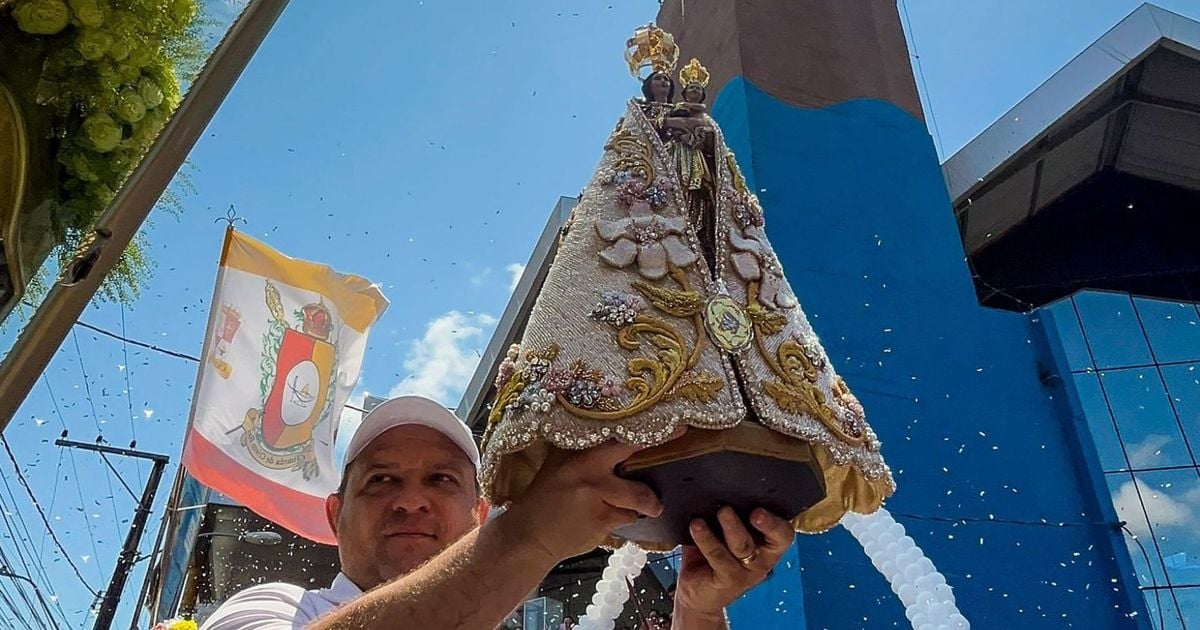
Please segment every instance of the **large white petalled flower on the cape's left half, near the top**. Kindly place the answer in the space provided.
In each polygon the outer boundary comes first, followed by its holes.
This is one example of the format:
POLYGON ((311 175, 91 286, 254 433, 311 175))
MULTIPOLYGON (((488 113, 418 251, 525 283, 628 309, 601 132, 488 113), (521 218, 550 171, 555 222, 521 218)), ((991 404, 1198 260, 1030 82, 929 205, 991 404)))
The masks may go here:
POLYGON ((696 252, 679 239, 686 227, 686 218, 655 215, 649 203, 637 202, 625 218, 596 220, 596 234, 612 244, 600 258, 618 269, 637 260, 640 274, 658 280, 667 275, 667 263, 683 268, 696 262, 696 252))

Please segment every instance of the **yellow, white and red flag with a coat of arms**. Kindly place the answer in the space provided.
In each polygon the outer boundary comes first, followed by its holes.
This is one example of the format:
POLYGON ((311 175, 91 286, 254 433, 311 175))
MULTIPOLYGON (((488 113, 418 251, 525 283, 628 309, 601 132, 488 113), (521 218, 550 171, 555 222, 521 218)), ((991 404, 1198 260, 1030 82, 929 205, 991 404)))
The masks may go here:
POLYGON ((378 287, 226 232, 184 466, 299 535, 334 544, 334 439, 359 378, 378 287))

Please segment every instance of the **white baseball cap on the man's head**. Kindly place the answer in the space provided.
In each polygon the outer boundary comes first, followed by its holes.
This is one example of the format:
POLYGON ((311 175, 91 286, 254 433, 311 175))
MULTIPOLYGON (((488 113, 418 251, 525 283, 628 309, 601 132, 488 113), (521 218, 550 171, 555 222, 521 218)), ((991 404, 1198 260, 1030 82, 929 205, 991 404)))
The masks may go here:
POLYGON ((350 462, 361 455, 376 438, 390 428, 406 425, 427 426, 450 438, 450 442, 454 442, 467 454, 475 470, 479 470, 479 446, 475 445, 475 438, 472 437, 467 425, 462 424, 450 409, 436 401, 424 396, 400 396, 379 403, 362 419, 362 424, 350 438, 350 445, 346 449, 346 463, 342 464, 343 474, 349 468, 350 462))

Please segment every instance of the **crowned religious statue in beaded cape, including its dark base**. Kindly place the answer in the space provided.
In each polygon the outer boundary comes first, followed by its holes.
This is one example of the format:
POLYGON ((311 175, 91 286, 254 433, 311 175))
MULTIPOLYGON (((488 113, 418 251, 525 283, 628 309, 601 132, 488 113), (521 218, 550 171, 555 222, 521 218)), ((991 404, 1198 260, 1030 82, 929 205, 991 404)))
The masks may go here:
POLYGON ((654 445, 622 472, 650 484, 671 521, 620 538, 670 548, 690 518, 763 502, 821 532, 846 511, 875 511, 895 485, 708 115, 698 60, 682 68, 676 101, 678 55, 653 25, 629 41, 630 72, 650 71, 643 97, 608 138, 521 343, 498 368, 484 492, 503 505, 548 448, 616 439, 654 445), (680 425, 684 437, 670 440, 680 425))

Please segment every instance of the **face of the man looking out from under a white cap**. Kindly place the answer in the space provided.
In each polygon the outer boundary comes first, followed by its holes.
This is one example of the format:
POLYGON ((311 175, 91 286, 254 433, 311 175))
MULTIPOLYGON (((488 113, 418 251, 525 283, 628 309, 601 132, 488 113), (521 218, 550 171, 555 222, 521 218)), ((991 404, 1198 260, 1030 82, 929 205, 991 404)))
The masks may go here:
POLYGON ((462 449, 425 426, 390 428, 350 463, 325 502, 342 572, 364 590, 406 575, 487 514, 462 449))

